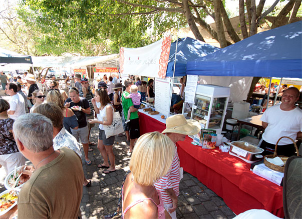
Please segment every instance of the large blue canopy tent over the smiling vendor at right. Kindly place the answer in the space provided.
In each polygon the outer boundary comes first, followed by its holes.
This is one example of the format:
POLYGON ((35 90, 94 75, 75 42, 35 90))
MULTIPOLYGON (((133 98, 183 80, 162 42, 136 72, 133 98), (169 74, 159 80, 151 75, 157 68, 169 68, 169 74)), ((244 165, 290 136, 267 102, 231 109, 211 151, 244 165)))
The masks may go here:
POLYGON ((302 21, 280 26, 188 61, 186 74, 302 77, 302 21))

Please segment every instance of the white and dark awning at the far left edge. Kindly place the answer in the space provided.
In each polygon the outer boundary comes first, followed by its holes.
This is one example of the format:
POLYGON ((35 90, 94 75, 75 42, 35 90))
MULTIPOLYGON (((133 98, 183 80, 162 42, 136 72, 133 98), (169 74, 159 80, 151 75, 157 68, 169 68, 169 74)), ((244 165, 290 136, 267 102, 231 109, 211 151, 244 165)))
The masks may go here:
POLYGON ((7 63, 29 63, 32 64, 32 57, 30 55, 19 54, 4 48, 0 48, 0 64, 7 63))

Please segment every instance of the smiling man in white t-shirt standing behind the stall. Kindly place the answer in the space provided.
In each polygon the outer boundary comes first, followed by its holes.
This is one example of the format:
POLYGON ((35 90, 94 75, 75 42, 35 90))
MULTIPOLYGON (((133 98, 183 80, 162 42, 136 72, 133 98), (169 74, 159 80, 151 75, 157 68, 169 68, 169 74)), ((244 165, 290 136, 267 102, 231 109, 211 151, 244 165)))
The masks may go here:
MULTIPOLYGON (((287 136, 295 140, 302 136, 302 110, 294 105, 299 94, 296 87, 287 88, 282 95, 281 104, 269 107, 260 118, 262 126, 265 128, 260 145, 265 149, 264 155, 274 152, 275 144, 280 137, 287 136)), ((278 142, 277 154, 295 155, 292 141, 282 138, 278 142)))

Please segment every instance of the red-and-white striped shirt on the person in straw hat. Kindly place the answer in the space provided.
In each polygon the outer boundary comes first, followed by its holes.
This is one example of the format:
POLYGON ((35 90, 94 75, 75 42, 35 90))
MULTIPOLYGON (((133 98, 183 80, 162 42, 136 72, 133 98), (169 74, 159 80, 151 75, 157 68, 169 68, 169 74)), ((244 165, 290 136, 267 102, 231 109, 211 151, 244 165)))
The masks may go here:
POLYGON ((176 196, 178 196, 179 194, 180 165, 179 165, 179 158, 178 158, 176 145, 175 145, 175 149, 176 151, 170 170, 166 175, 164 175, 162 178, 160 178, 154 183, 155 188, 160 191, 164 203, 167 204, 172 203, 172 199, 164 189, 173 188, 176 196))

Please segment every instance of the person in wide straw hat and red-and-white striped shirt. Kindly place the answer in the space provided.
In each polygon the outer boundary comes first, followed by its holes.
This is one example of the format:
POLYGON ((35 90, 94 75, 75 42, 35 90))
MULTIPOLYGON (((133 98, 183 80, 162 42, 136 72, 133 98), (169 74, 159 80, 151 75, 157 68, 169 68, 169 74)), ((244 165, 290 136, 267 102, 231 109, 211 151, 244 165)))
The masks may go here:
POLYGON ((179 194, 179 182, 182 178, 182 168, 179 165, 176 142, 184 140, 186 135, 194 135, 200 131, 200 124, 193 119, 185 119, 182 114, 172 115, 166 119, 166 129, 162 131, 175 144, 175 155, 170 170, 166 175, 154 183, 160 191, 165 209, 172 218, 176 218, 177 196, 179 194))

